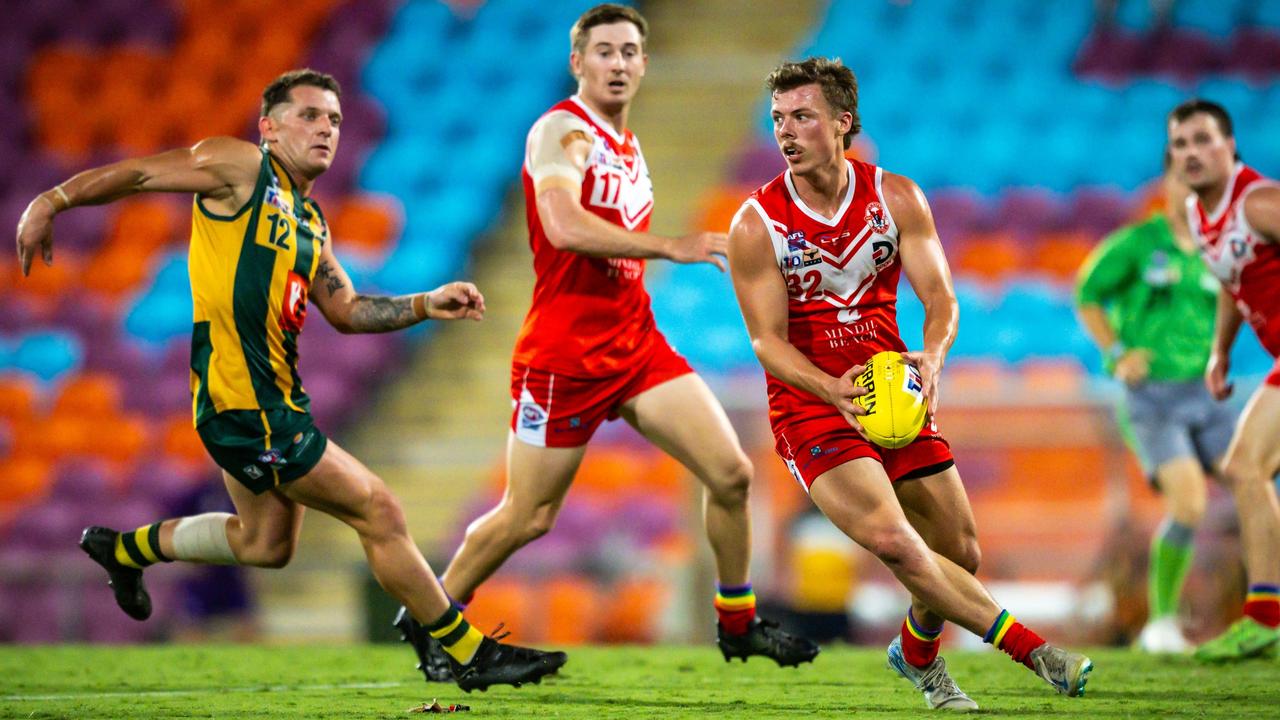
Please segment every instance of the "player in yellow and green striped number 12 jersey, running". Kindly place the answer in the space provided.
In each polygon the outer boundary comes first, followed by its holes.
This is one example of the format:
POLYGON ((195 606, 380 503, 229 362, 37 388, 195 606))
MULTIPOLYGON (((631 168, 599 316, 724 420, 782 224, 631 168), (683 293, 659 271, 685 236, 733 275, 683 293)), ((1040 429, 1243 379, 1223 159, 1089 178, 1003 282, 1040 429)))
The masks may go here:
POLYGON ((36 196, 18 223, 23 275, 54 260, 52 222, 78 205, 140 192, 193 193, 191 392, 196 429, 223 469, 236 514, 205 512, 131 532, 86 528, 81 548, 134 620, 151 615, 142 582, 155 562, 283 568, 314 507, 360 536, 374 577, 439 638, 463 689, 535 682, 563 653, 483 635, 444 596, 378 475, 329 442, 297 372, 307 300, 347 333, 389 332, 429 318, 484 318, 470 283, 398 297, 360 295, 333 251, 312 186, 333 163, 342 124, 333 77, 292 70, 262 91, 261 145, 212 137, 189 149, 84 170, 36 196))

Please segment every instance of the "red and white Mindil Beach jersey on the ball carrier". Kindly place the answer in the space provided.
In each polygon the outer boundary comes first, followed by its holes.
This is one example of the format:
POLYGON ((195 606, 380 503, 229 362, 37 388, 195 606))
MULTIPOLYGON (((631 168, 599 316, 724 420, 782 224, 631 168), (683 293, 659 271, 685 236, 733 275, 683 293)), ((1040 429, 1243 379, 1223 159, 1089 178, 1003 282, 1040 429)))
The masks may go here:
MULTIPOLYGON (((787 283, 787 338, 814 365, 842 375, 882 350, 905 351, 897 334, 897 224, 881 193, 881 168, 849 160, 849 190, 835 218, 800 199, 786 170, 746 200, 773 241, 787 283)), ((769 419, 788 421, 826 402, 765 374, 769 419)))

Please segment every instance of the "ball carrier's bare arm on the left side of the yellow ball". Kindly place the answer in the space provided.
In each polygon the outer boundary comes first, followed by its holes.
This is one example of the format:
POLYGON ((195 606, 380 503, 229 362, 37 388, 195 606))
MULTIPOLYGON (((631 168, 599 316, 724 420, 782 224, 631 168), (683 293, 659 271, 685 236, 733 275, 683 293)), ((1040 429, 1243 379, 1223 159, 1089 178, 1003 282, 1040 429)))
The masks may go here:
POLYGON ((750 206, 744 205, 730 227, 728 265, 746 332, 751 336, 751 348, 760 365, 788 386, 829 402, 854 429, 861 432, 854 416, 867 411, 854 405, 854 397, 865 395, 867 388, 855 387, 854 378, 864 368, 854 365, 836 378, 791 345, 787 338, 787 286, 778 272, 764 222, 750 206))

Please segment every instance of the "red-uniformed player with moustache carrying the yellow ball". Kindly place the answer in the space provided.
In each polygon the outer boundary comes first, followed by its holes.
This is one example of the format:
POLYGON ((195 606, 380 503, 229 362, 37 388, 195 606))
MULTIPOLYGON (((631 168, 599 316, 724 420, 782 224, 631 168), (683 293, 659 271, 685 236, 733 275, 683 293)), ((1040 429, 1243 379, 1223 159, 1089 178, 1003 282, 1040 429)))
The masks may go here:
POLYGON ((973 577, 973 511, 931 421, 899 450, 872 445, 854 397, 863 364, 896 350, 920 373, 931 414, 955 340, 957 305, 929 206, 910 179, 845 150, 860 131, 858 83, 838 60, 785 63, 769 76, 773 135, 787 163, 739 210, 728 259, 769 392, 778 455, 813 502, 911 592, 890 666, 929 707, 972 710, 938 657, 943 620, 983 637, 1059 692, 1078 696, 1093 664, 1056 648, 973 577), (900 273, 924 304, 924 348, 897 333, 900 273))

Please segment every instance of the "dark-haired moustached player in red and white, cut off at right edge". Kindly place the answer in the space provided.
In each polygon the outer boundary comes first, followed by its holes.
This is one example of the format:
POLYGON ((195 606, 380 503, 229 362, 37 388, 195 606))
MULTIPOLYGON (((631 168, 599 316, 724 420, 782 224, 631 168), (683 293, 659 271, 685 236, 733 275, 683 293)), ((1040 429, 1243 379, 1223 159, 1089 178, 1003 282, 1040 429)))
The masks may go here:
MULTIPOLYGON (((1204 384, 1215 398, 1226 382, 1231 345, 1248 320, 1262 347, 1280 357, 1280 183, 1240 161, 1231 117, 1221 105, 1188 100, 1169 114, 1169 152, 1187 200, 1192 236, 1222 283, 1204 384)), ((1244 616, 1204 643, 1208 661, 1271 655, 1280 647, 1280 360, 1253 392, 1222 460, 1235 496, 1249 591, 1244 616)))

